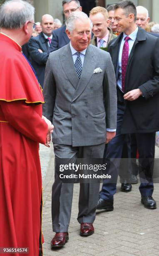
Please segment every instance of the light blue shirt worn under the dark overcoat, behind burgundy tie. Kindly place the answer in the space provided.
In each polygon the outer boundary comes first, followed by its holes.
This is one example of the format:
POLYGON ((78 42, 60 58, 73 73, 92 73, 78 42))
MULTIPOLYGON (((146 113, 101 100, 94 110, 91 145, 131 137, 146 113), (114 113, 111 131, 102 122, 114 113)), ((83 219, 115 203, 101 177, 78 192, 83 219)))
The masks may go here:
MULTIPOLYGON (((128 40, 128 44, 129 44, 129 55, 130 52, 132 51, 132 47, 134 45, 134 41, 137 38, 137 32, 138 32, 138 27, 129 35, 129 40, 128 40)), ((119 59, 118 59, 118 68, 119 68, 119 73, 118 73, 118 79, 117 79, 117 85, 119 87, 119 89, 122 91, 122 49, 125 43, 124 38, 127 35, 125 35, 125 33, 123 34, 123 38, 122 38, 122 42, 120 45, 120 51, 119 51, 119 59)))

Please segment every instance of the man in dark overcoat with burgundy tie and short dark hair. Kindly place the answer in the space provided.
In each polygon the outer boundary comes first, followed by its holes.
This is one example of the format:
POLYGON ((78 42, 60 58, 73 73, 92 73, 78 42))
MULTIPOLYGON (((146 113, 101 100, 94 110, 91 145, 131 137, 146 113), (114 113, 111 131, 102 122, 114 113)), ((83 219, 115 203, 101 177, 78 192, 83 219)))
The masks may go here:
POLYGON ((148 209, 155 209, 153 193, 153 164, 155 132, 159 130, 159 38, 138 28, 137 11, 132 1, 115 5, 114 17, 120 35, 110 42, 108 51, 112 57, 117 79, 117 132, 108 144, 107 158, 116 159, 110 165, 113 183, 104 180, 97 209, 113 210, 117 173, 124 136, 134 133, 139 151, 141 202, 148 209), (114 166, 116 168, 114 168, 114 166))

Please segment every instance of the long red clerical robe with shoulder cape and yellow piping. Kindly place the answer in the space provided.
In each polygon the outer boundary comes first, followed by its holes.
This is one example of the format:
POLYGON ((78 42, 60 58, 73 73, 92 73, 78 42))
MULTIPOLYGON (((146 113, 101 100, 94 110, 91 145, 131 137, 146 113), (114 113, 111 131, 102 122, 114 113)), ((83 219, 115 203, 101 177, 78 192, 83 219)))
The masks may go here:
POLYGON ((39 143, 45 143, 47 135, 43 102, 21 47, 0 33, 0 248, 29 249, 29 254, 12 254, 16 256, 42 255, 39 143))

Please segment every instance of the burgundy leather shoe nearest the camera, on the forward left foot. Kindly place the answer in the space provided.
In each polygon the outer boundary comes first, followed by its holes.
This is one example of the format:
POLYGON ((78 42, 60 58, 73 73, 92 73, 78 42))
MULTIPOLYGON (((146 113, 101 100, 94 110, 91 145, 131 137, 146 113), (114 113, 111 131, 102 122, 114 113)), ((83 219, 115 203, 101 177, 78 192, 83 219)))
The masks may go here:
POLYGON ((51 248, 62 247, 69 240, 68 232, 56 233, 51 241, 51 248))

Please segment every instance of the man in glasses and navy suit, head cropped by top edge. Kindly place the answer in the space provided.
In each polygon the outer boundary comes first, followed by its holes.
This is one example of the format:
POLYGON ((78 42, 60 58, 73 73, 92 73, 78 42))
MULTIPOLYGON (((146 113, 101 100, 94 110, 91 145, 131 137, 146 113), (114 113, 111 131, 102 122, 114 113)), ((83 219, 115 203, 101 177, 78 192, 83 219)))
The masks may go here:
MULTIPOLYGON (((82 7, 80 6, 80 2, 78 0, 63 0, 62 7, 66 19, 71 12, 82 11, 82 7)), ((70 42, 65 30, 66 25, 53 31, 50 52, 56 51, 70 42)))

